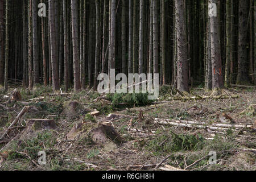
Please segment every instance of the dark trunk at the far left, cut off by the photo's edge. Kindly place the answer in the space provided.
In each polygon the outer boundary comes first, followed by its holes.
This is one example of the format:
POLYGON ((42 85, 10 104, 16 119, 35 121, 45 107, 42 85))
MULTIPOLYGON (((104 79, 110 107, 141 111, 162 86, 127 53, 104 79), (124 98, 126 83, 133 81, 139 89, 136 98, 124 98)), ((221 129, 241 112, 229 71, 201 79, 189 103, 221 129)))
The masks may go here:
MULTIPOLYGON (((24 2, 25 3, 25 2, 24 2)), ((4 26, 4 10, 3 0, 0 0, 0 85, 4 85, 5 76, 3 71, 5 70, 5 26, 4 26)))

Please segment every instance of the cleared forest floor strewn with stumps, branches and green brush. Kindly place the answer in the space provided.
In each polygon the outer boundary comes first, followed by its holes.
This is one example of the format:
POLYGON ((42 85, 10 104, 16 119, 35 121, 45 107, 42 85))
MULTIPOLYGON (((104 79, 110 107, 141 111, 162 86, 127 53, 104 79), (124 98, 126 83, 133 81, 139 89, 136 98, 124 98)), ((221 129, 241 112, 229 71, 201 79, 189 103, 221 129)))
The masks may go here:
POLYGON ((19 89, 22 98, 14 101, 14 89, 0 93, 0 137, 10 129, 0 140, 0 170, 256 170, 255 88, 202 99, 203 88, 192 89, 193 98, 171 96, 164 86, 159 101, 144 105, 143 96, 121 104, 124 94, 100 97, 91 90, 49 96, 44 86, 19 89), (96 110, 99 115, 91 113, 96 110), (27 119, 56 126, 28 130, 27 119), (39 151, 46 152, 45 165, 38 164, 39 151))

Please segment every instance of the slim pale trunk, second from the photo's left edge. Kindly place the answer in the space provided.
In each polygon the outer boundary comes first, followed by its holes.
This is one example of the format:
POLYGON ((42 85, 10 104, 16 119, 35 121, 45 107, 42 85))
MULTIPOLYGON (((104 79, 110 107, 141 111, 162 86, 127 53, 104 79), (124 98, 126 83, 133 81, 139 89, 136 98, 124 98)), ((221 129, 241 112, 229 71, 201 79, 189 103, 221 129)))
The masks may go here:
POLYGON ((6 0, 5 12, 5 92, 8 90, 8 64, 9 64, 9 0, 6 0))

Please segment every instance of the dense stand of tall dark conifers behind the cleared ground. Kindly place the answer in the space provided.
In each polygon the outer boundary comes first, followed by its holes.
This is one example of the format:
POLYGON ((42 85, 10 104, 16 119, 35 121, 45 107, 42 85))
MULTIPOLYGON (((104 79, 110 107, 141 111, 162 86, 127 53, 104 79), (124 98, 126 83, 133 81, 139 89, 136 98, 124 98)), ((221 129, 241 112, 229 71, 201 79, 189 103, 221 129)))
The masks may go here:
POLYGON ((217 4, 214 40, 207 0, 0 0, 0 85, 63 85, 77 92, 97 88, 98 74, 114 68, 160 73, 160 85, 181 91, 188 85, 212 90, 215 44, 223 79, 217 87, 255 84, 256 1, 210 2, 217 4), (41 2, 46 17, 38 16, 41 2))

